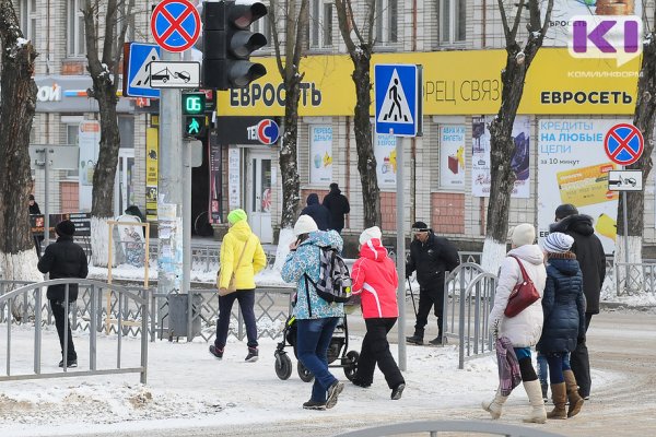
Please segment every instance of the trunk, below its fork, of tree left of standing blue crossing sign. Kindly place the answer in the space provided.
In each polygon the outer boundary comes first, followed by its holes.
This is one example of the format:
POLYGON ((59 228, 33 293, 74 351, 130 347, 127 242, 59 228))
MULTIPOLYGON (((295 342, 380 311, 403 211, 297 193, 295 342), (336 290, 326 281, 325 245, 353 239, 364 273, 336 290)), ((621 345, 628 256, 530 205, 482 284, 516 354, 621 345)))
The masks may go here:
POLYGON ((355 84, 354 130, 358 149, 358 172, 362 184, 362 204, 364 209, 364 227, 382 224, 380 189, 376 173, 376 155, 372 141, 372 122, 370 108, 372 105, 371 47, 360 45, 360 50, 351 54, 353 60, 353 83, 355 84))

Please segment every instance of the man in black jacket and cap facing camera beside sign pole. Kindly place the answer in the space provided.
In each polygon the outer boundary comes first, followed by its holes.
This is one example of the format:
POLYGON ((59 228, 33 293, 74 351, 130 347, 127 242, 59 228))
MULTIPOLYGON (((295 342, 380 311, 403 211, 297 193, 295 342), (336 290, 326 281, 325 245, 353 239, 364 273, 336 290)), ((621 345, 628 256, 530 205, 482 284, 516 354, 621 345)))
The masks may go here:
POLYGON ((433 305, 437 317, 438 334, 431 344, 442 344, 442 315, 444 314, 444 274, 453 271, 460 263, 458 251, 444 237, 437 237, 424 222, 412 225, 414 239, 410 244, 410 260, 406 264, 406 277, 417 270, 419 282, 419 309, 414 335, 407 336, 408 343, 423 344, 424 327, 429 322, 429 314, 433 305))

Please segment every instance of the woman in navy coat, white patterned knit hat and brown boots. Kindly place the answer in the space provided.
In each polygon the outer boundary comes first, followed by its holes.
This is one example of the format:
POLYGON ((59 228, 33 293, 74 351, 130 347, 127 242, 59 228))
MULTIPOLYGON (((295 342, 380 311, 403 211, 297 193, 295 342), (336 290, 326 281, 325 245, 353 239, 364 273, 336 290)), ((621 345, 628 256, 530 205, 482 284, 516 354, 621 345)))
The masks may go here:
POLYGON ((542 247, 547 253, 547 285, 542 296, 544 324, 536 349, 547 357, 553 410, 548 418, 575 416, 583 406, 576 377, 567 355, 576 350, 578 333, 585 331, 583 276, 576 255, 570 251, 574 238, 551 233, 542 247), (570 402, 569 411, 565 404, 570 402))

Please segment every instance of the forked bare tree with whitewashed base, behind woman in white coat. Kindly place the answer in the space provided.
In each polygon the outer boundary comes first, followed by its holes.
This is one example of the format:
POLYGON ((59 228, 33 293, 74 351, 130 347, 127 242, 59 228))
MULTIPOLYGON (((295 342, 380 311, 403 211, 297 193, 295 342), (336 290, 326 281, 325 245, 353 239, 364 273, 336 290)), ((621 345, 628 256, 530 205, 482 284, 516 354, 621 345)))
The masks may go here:
POLYGON ((512 27, 504 7, 504 0, 497 0, 503 33, 505 37, 506 66, 501 72, 503 91, 499 114, 490 123, 490 201, 485 223, 485 243, 483 246, 482 267, 487 271, 496 272, 505 256, 505 241, 511 210, 511 192, 516 175, 511 167, 515 153, 513 141, 513 123, 517 108, 524 94, 526 74, 534 61, 547 33, 553 0, 548 0, 542 20, 540 0, 519 0, 515 3, 515 17, 512 27), (528 9, 527 36, 524 47, 517 40, 519 25, 525 20, 523 14, 528 9))

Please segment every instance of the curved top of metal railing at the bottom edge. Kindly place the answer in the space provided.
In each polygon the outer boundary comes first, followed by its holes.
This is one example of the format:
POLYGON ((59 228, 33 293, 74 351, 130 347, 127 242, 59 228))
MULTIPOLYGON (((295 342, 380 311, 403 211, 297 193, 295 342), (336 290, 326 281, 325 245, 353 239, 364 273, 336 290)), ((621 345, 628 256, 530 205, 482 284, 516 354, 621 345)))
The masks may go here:
POLYGON ((549 433, 539 428, 511 425, 490 421, 425 421, 406 422, 393 425, 375 426, 350 433, 337 434, 335 437, 385 437, 400 435, 429 434, 437 437, 440 433, 477 433, 507 437, 563 437, 561 434, 549 433))

